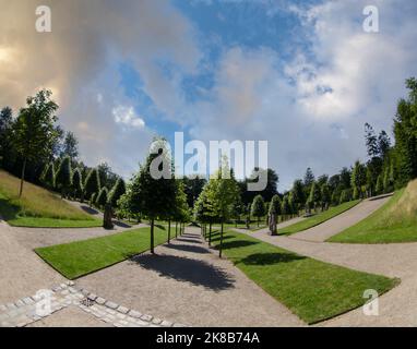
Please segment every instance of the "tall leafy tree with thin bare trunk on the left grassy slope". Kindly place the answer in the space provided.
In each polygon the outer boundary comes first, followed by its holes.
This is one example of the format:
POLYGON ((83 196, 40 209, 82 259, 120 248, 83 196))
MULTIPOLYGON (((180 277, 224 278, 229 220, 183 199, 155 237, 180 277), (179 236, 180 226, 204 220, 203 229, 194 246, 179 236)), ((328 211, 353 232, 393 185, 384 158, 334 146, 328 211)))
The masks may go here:
POLYGON ((23 159, 19 197, 22 196, 26 164, 51 154, 58 137, 55 112, 58 105, 50 99, 52 93, 43 89, 35 97, 27 97, 26 107, 20 110, 13 125, 13 143, 23 159))

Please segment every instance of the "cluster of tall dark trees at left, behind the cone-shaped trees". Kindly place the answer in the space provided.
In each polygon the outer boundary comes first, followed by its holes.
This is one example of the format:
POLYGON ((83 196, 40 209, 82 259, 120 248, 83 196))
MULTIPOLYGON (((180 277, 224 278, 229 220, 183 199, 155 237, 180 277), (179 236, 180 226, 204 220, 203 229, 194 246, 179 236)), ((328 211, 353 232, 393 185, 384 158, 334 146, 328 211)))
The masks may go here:
MULTIPOLYGON (((43 89, 28 97, 26 106, 14 117, 10 107, 0 111, 0 166, 22 179, 20 195, 24 179, 45 185, 47 177, 46 186, 55 190, 55 174, 59 173, 57 179, 62 186, 61 176, 64 180, 64 170, 68 172, 65 158, 70 159, 72 168, 79 169, 82 178, 92 170, 79 160, 75 135, 58 124, 58 105, 51 96, 50 91, 43 89)), ((97 171, 103 186, 112 188, 119 179, 106 163, 99 164, 97 171)))

